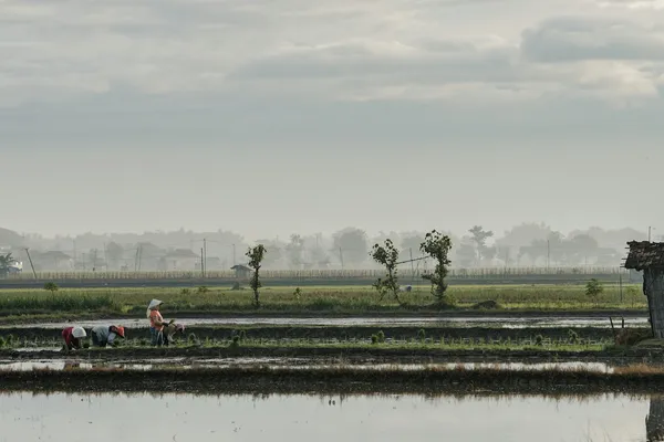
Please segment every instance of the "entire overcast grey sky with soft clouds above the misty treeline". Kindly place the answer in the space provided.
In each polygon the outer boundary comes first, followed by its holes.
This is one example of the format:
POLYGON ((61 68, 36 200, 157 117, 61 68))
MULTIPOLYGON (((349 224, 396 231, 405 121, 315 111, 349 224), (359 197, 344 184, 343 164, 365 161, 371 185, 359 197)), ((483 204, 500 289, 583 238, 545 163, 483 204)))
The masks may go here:
POLYGON ((645 230, 663 95, 664 0, 0 0, 0 225, 645 230))

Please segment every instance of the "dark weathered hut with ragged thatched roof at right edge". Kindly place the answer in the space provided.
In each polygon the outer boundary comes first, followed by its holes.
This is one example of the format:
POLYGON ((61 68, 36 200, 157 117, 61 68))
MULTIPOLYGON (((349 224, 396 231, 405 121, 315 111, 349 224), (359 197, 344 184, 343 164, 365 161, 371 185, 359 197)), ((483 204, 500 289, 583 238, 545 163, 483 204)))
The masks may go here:
POLYGON ((643 271, 643 294, 647 297, 655 338, 664 338, 664 243, 632 241, 625 269, 643 271))

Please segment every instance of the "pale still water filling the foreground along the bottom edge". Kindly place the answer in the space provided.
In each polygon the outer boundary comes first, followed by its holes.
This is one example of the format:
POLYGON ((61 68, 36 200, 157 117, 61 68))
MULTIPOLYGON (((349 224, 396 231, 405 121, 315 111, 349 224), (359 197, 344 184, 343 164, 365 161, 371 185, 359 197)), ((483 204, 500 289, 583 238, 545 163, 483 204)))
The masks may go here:
POLYGON ((646 441, 663 410, 663 399, 626 396, 2 393, 0 442, 646 441))

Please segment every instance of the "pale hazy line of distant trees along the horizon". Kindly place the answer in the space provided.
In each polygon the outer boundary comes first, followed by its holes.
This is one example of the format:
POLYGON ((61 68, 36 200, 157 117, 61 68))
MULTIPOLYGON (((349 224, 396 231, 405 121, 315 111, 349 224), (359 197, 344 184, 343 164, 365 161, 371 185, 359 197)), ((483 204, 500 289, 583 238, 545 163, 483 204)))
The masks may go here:
MULTIPOLYGON (((627 241, 644 240, 647 234, 633 229, 572 231, 567 234, 543 223, 522 223, 497 234, 484 225, 471 225, 457 235, 443 231, 452 240, 452 267, 496 266, 618 266, 627 241)), ((390 239, 402 260, 422 256, 419 245, 425 232, 380 232, 370 235, 363 229, 349 227, 329 235, 293 233, 288 238, 263 238, 249 242, 240 234, 218 230, 193 232, 85 233, 72 236, 43 238, 20 235, 0 229, 0 253, 12 252, 28 262, 24 248, 38 271, 69 269, 111 271, 172 271, 200 269, 201 254, 207 270, 228 270, 246 264, 245 251, 261 243, 268 253, 263 267, 298 269, 376 269, 370 257, 375 243, 390 239), (205 240, 205 242, 204 242, 205 240), (205 248, 205 251, 204 251, 205 248), (204 253, 201 253, 204 252, 204 253)), ((414 265, 421 265, 418 261, 414 265)))

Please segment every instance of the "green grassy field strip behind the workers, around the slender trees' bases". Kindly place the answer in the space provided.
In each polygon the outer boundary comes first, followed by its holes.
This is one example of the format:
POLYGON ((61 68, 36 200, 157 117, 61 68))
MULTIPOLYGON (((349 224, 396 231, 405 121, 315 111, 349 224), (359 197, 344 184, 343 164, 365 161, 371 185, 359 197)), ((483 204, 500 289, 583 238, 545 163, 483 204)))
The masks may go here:
MULTIPOLYGON (((473 309, 477 303, 496 301, 502 312, 581 312, 643 311, 645 296, 637 286, 623 286, 622 301, 618 287, 606 286, 596 299, 589 298, 579 285, 501 285, 450 286, 457 299, 457 312, 473 309)), ((228 288, 86 288, 61 290, 51 294, 43 290, 0 291, 0 316, 39 318, 142 317, 147 303, 157 297, 165 302, 166 316, 179 315, 408 315, 439 314, 428 287, 414 287, 402 293, 405 305, 393 298, 380 299, 371 287, 264 287, 261 308, 252 305, 249 290, 228 288)))

